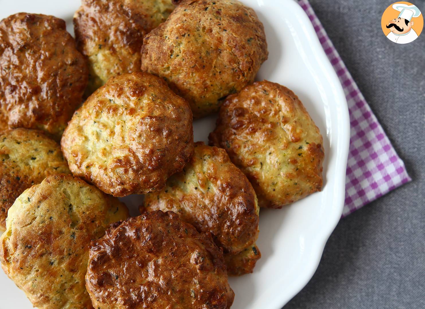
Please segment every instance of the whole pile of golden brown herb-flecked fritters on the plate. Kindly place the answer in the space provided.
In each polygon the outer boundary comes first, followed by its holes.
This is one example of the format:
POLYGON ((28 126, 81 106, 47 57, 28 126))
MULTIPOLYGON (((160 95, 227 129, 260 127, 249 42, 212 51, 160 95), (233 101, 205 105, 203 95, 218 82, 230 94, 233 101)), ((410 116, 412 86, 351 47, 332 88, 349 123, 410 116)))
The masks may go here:
POLYGON ((261 257, 259 207, 322 187, 303 104, 254 83, 262 23, 237 0, 82 0, 74 29, 0 22, 3 270, 39 308, 229 308, 228 275, 261 257), (218 110, 211 146, 193 143, 218 110), (129 194, 146 194, 135 218, 129 194))

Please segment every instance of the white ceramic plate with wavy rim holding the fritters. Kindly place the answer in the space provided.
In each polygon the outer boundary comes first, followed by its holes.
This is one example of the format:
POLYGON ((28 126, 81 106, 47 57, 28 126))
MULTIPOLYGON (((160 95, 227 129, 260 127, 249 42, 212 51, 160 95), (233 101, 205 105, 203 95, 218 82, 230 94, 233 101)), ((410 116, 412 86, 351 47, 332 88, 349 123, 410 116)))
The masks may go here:
MULTIPOLYGON (((230 278, 232 309, 279 309, 312 277, 323 247, 340 219, 349 142, 347 103, 340 82, 316 37, 312 24, 294 0, 242 0, 264 24, 269 59, 257 79, 292 89, 323 135, 323 191, 281 210, 262 209, 258 247, 262 258, 254 273, 230 278)), ((25 11, 51 14, 67 22, 79 0, 0 0, 0 18, 25 11)), ((215 116, 195 121, 194 138, 207 142, 215 116)), ((138 197, 124 198, 133 215, 138 197)), ((0 271, 0 308, 31 308, 25 294, 0 271)))

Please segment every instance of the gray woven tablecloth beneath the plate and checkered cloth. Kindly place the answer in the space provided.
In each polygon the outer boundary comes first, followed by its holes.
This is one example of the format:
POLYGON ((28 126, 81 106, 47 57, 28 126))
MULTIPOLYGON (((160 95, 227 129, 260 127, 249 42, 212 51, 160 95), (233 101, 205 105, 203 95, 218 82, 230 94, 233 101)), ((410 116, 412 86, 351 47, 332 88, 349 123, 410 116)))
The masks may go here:
POLYGON ((284 309, 425 308, 425 29, 409 44, 386 39, 394 1, 310 0, 413 181, 342 219, 284 309))

